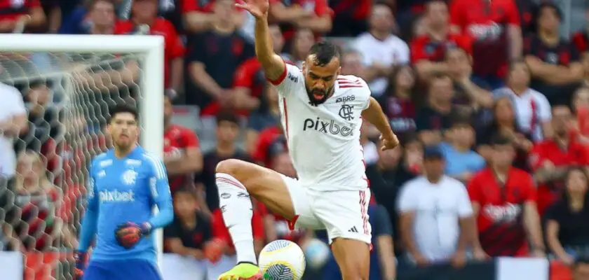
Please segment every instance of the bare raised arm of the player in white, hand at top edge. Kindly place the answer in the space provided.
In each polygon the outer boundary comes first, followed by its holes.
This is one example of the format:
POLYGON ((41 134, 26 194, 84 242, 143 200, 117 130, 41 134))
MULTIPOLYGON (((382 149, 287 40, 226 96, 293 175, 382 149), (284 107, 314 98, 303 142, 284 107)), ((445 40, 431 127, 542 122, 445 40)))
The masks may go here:
POLYGON ((286 65, 284 60, 274 52, 272 38, 268 27, 268 0, 243 0, 236 4, 239 8, 248 10, 255 18, 255 47, 256 57, 269 80, 280 80, 284 75, 286 65))

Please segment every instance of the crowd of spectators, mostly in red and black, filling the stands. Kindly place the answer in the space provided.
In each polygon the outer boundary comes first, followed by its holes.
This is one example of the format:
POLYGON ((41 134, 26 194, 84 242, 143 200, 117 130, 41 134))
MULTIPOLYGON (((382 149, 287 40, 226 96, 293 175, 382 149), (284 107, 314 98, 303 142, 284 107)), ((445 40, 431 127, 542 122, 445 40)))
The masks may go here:
MULTIPOLYGON (((401 147, 382 152, 374 127, 363 125, 360 135, 373 193, 371 279, 394 279, 397 266, 461 266, 467 258, 499 256, 557 259, 589 279, 589 32, 561 34, 559 6, 533 0, 270 5, 275 51, 300 66, 316 41, 341 43, 341 74, 369 83, 400 137, 401 147), (463 188, 453 188, 448 177, 463 188), (469 217, 476 232, 468 230, 469 217)), ((213 258, 205 254, 210 246, 222 258, 234 254, 215 186, 219 161, 238 158, 297 175, 278 93, 255 58, 253 26, 233 0, 0 0, 3 33, 165 38, 164 162, 176 214, 164 232, 165 251, 197 260, 213 258), (198 108, 198 137, 172 122, 177 104, 198 108)), ((140 63, 119 59, 81 75, 97 89, 87 101, 95 106, 91 116, 65 118, 56 94, 62 85, 30 73, 24 82, 11 79, 51 59, 0 53, 0 80, 9 84, 0 84, 6 251, 76 248, 84 170, 110 146, 104 106, 140 95, 140 63)), ((262 204, 254 213, 257 251, 275 239, 304 247, 326 238, 290 231, 262 204)), ((324 273, 337 279, 333 260, 324 273)))

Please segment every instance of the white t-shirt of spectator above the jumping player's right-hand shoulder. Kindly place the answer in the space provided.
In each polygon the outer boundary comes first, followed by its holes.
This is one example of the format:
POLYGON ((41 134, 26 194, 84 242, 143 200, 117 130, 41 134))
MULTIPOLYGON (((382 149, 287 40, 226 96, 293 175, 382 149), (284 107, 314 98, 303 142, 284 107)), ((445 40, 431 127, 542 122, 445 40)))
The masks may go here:
MULTIPOLYGON (((374 63, 384 66, 409 63, 409 46, 393 34, 381 41, 365 32, 356 38, 353 48, 360 52, 365 66, 372 66, 374 63)), ((369 85, 372 95, 378 97, 386 90, 388 78, 374 79, 369 85)))

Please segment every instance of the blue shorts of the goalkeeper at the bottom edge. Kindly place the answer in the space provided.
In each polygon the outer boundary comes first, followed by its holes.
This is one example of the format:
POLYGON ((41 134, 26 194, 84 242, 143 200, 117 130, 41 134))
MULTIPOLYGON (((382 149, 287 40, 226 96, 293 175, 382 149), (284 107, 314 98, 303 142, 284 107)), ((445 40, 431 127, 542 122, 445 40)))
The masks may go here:
POLYGON ((158 268, 148 260, 90 260, 83 280, 162 280, 158 268))

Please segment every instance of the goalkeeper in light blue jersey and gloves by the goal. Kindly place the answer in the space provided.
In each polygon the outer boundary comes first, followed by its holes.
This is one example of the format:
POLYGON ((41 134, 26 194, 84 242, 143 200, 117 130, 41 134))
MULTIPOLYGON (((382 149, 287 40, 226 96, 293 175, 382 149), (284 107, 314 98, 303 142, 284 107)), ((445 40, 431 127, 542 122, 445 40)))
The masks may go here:
POLYGON ((114 148, 90 165, 76 276, 85 280, 160 280, 152 230, 172 222, 170 187, 161 160, 137 144, 137 111, 115 106, 107 130, 114 148), (152 215, 154 204, 159 213, 152 215), (96 236, 90 264, 86 251, 96 236))

